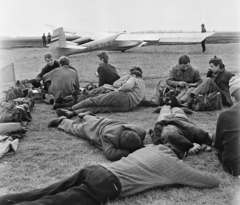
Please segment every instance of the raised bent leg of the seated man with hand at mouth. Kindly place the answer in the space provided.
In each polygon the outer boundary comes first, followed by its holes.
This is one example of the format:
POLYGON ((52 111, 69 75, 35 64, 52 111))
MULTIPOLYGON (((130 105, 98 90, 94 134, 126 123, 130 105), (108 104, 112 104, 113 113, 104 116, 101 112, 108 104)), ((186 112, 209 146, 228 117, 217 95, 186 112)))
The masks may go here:
POLYGON ((206 95, 208 93, 218 92, 219 89, 211 78, 206 78, 197 88, 192 91, 194 95, 206 95))

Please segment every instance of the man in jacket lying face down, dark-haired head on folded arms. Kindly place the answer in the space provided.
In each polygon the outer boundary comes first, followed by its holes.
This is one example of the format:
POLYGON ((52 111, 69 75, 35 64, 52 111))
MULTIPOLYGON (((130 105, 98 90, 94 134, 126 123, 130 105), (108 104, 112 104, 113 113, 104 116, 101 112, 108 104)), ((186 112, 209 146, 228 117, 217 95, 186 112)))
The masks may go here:
POLYGON ((49 127, 59 129, 90 141, 103 150, 106 158, 116 161, 141 148, 146 131, 140 126, 126 122, 92 116, 90 112, 79 113, 82 123, 66 117, 55 118, 49 127))

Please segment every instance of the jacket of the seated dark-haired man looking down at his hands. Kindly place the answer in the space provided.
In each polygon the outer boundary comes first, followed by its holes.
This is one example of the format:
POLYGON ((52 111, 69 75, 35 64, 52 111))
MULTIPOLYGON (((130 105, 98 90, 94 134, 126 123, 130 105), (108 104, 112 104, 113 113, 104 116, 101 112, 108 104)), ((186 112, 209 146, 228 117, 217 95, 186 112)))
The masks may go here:
POLYGON ((189 64, 188 69, 184 72, 179 64, 171 67, 169 71, 169 76, 166 80, 168 86, 177 87, 179 81, 184 81, 186 83, 196 83, 196 86, 201 84, 202 79, 197 68, 189 64))

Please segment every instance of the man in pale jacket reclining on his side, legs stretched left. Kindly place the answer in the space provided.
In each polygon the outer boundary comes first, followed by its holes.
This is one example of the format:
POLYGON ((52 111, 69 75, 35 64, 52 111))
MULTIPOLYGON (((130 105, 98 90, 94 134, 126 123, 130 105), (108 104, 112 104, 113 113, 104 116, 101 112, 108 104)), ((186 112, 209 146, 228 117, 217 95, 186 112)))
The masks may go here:
POLYGON ((99 112, 127 112, 136 107, 145 97, 145 82, 142 73, 134 70, 130 78, 117 90, 97 97, 90 97, 72 106, 72 111, 57 109, 60 116, 71 118, 78 113, 91 111, 99 112))

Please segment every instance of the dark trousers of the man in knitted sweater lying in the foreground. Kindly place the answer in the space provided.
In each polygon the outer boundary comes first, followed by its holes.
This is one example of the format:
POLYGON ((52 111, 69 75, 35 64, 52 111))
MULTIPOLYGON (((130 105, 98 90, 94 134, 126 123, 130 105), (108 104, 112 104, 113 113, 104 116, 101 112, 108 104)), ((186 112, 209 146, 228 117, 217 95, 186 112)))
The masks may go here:
POLYGON ((101 165, 92 165, 43 189, 0 197, 1 205, 94 205, 121 192, 118 178, 101 165))

